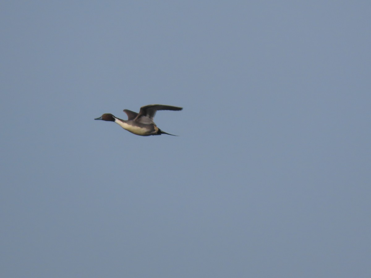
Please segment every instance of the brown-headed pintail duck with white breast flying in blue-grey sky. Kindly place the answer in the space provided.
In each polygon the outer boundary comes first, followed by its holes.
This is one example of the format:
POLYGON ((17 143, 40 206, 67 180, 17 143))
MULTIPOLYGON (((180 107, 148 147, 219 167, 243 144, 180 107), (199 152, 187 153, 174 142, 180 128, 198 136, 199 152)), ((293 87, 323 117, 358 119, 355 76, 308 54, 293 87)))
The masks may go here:
POLYGON ((124 112, 128 116, 127 120, 122 120, 116 118, 110 113, 105 113, 95 120, 104 120, 106 122, 115 122, 123 129, 128 130, 131 133, 139 136, 151 136, 151 135, 161 135, 168 134, 172 136, 177 136, 162 131, 154 123, 153 118, 158 110, 173 110, 180 111, 183 107, 162 105, 162 104, 150 104, 140 107, 139 113, 124 109, 124 112))

